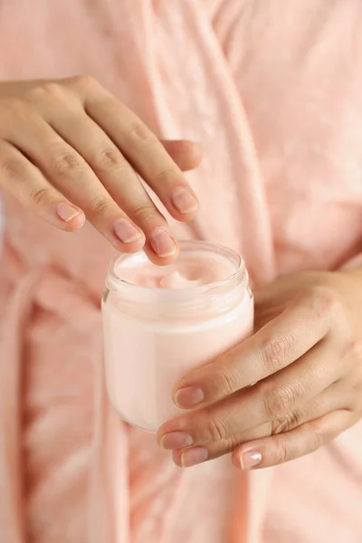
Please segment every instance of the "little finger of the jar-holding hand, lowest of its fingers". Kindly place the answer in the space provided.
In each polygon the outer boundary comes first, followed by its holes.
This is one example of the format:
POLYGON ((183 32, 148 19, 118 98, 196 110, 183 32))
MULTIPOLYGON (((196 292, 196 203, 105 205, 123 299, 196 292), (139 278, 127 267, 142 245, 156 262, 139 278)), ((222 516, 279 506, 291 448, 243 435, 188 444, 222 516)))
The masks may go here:
POLYGON ((291 432, 244 443, 233 451, 233 464, 242 470, 269 468, 317 451, 356 422, 349 411, 325 414, 291 432), (352 420, 353 419, 353 420, 352 420))

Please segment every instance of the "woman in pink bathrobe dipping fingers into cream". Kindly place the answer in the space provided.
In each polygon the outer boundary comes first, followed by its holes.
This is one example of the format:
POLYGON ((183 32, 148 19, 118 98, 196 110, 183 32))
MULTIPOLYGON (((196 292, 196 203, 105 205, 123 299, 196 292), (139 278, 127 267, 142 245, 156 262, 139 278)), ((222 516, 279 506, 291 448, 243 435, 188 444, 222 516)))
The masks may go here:
POLYGON ((0 84, 2 540, 359 541, 359 0, 34 7, 0 5, 2 80, 32 80, 0 84), (134 115, 202 144, 190 185, 198 148, 134 115), (200 409, 158 447, 105 397, 100 295, 111 244, 179 237, 243 253, 257 331, 176 384, 200 409))

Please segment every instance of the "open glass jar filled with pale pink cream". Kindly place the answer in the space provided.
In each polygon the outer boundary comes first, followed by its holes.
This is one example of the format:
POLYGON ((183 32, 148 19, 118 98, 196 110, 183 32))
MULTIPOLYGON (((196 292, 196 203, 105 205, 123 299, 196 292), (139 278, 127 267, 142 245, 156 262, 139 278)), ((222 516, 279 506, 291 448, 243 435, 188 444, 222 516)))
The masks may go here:
POLYGON ((235 252, 210 243, 180 243, 167 267, 123 254, 110 265, 102 316, 110 402, 156 432, 181 413, 176 381, 252 334, 248 273, 235 252))

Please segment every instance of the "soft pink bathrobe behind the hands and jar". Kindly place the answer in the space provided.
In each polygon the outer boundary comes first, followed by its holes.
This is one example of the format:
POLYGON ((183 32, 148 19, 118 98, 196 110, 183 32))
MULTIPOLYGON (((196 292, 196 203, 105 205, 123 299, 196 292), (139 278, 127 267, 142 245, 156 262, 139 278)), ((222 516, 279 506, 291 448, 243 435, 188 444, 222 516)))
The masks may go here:
MULTIPOLYGON (((0 0, 1 79, 78 73, 203 145, 175 232, 241 252, 254 285, 361 251, 361 0, 0 0)), ((268 471, 176 468, 104 393, 109 244, 4 199, 1 543, 362 541, 362 424, 268 471)))

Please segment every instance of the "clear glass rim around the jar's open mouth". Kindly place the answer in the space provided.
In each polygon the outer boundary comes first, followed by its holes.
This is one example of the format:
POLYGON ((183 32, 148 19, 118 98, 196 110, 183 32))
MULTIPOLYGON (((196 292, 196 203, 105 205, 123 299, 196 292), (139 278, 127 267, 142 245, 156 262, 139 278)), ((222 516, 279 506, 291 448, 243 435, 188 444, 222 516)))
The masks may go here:
POLYGON ((116 273, 116 268, 119 266, 120 262, 124 262, 127 259, 135 258, 138 254, 141 254, 142 252, 138 253, 127 253, 127 254, 118 254, 115 256, 112 261, 110 262, 110 268, 108 271, 108 278, 107 278, 107 286, 110 287, 110 283, 112 283, 114 286, 116 286, 116 289, 119 288, 127 289, 129 293, 131 291, 138 292, 141 294, 142 292, 145 293, 145 295, 149 295, 150 293, 157 292, 157 298, 169 298, 170 296, 174 298, 180 298, 184 297, 186 292, 190 293, 190 295, 193 294, 199 294, 205 291, 209 290, 217 290, 219 288, 223 288, 227 286, 229 283, 233 283, 233 281, 240 281, 243 280, 246 269, 245 269, 245 263, 243 261, 243 258, 237 253, 234 252, 233 249, 229 249, 228 247, 225 247, 221 244, 215 244, 215 243, 208 243, 208 242, 200 242, 200 241, 179 241, 178 242, 180 247, 180 252, 191 252, 191 251, 207 251, 207 252, 214 252, 220 256, 223 256, 226 258, 229 262, 232 262, 234 265, 234 271, 227 277, 224 277, 222 280, 219 281, 213 281, 207 284, 202 285, 193 285, 193 286, 186 286, 186 287, 180 287, 177 289, 172 288, 166 288, 166 289, 157 289, 150 286, 145 285, 138 285, 135 283, 131 283, 129 281, 126 281, 124 279, 121 279, 119 275, 116 273))

